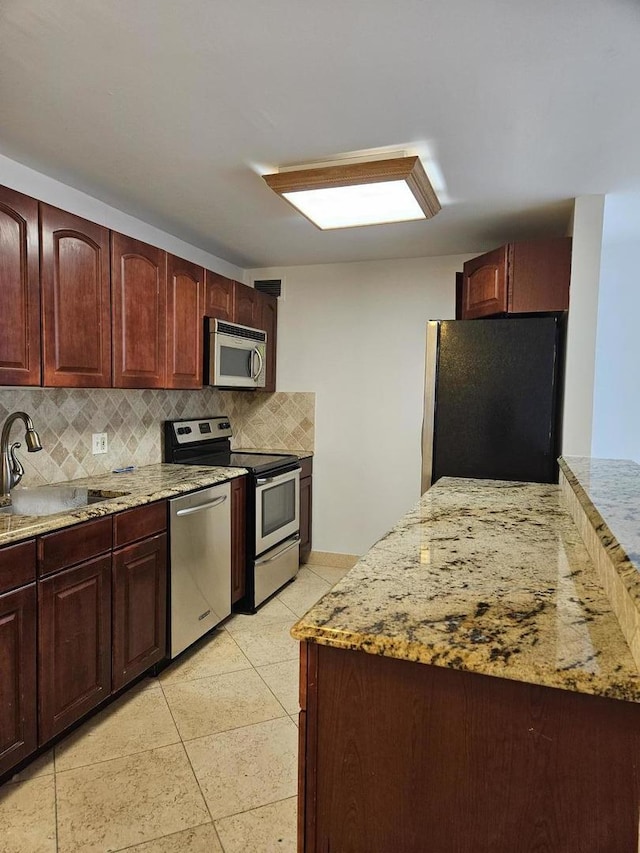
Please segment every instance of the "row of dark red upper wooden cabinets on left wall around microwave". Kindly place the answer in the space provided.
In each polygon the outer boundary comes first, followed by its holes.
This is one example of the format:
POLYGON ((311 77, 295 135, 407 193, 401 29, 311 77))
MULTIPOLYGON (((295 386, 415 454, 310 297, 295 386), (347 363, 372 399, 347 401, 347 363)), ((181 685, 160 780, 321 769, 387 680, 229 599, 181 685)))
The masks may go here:
POLYGON ((275 391, 275 298, 0 187, 0 385, 202 388, 203 317, 267 332, 275 391))

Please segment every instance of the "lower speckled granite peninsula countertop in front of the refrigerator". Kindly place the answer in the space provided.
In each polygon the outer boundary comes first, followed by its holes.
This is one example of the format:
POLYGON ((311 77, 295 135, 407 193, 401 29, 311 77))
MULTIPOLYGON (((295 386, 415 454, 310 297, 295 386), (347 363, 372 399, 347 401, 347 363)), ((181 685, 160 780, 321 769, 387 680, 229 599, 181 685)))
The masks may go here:
POLYGON ((292 634, 640 702, 638 670, 556 485, 443 478, 292 634))

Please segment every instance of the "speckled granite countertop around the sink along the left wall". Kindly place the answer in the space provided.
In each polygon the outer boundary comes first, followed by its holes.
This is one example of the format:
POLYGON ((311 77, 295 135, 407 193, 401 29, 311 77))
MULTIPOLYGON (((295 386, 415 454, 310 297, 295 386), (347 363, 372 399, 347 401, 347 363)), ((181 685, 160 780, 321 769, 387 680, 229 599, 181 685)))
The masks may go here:
POLYGON ((127 494, 55 515, 30 516, 0 513, 0 546, 59 530, 91 518, 142 506, 162 498, 172 498, 195 489, 214 486, 216 483, 232 480, 246 473, 245 468, 158 463, 144 465, 123 474, 100 474, 81 480, 71 480, 64 485, 89 488, 93 492, 104 494, 105 498, 113 492, 127 492, 127 494))

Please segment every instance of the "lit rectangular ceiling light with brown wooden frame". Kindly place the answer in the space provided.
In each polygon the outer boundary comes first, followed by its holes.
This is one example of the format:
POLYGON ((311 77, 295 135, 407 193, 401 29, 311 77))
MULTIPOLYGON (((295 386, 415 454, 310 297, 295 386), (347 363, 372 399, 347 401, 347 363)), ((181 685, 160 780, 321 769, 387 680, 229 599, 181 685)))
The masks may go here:
POLYGON ((263 177, 323 230, 430 219, 440 210, 418 157, 331 164, 263 177))

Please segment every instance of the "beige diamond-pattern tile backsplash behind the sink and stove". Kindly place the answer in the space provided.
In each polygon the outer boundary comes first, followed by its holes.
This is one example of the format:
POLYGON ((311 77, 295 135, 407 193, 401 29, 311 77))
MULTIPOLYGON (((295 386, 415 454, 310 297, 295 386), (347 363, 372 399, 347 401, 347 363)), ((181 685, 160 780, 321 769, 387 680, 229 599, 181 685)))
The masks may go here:
POLYGON ((22 422, 14 424, 26 486, 161 462, 162 421, 173 418, 228 415, 236 447, 314 449, 313 392, 0 388, 0 426, 14 411, 31 415, 43 447, 27 453, 22 422), (107 433, 107 453, 91 453, 94 432, 107 433))

